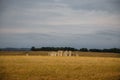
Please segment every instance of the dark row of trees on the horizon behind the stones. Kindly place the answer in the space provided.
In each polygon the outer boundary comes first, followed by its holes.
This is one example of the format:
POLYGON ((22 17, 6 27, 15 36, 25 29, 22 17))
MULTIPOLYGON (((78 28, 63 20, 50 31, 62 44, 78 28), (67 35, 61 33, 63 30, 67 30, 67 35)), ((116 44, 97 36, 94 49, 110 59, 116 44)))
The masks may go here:
POLYGON ((120 48, 110 48, 110 49, 87 49, 87 48, 81 48, 76 49, 72 47, 41 47, 41 48, 35 48, 34 46, 31 48, 31 51, 81 51, 81 52, 113 52, 113 53, 120 53, 120 48))

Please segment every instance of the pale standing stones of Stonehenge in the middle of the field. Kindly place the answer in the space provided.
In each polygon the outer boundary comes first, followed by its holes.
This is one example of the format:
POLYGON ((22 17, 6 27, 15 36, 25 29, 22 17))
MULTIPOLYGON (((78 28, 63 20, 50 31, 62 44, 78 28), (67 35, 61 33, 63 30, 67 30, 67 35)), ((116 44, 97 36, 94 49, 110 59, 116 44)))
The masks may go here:
POLYGON ((78 56, 78 54, 72 51, 52 51, 48 53, 48 56, 78 56))

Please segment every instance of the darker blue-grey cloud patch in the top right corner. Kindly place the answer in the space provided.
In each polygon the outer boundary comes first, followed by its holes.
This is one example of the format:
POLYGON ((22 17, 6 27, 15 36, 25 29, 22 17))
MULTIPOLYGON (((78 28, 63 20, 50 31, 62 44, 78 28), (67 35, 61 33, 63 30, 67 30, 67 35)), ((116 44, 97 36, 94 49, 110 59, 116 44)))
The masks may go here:
POLYGON ((65 3, 73 9, 120 12, 119 0, 66 0, 65 3))

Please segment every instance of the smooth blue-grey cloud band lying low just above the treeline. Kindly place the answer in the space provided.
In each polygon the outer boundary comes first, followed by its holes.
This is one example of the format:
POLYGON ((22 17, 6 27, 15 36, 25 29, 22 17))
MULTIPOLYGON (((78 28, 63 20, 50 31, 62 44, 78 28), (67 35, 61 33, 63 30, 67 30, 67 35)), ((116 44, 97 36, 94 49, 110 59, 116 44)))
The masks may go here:
POLYGON ((4 34, 1 36, 0 47, 42 47, 42 46, 56 46, 64 47, 70 46, 75 48, 111 48, 120 47, 117 38, 108 39, 106 35, 96 34, 66 34, 55 35, 51 34, 4 34))

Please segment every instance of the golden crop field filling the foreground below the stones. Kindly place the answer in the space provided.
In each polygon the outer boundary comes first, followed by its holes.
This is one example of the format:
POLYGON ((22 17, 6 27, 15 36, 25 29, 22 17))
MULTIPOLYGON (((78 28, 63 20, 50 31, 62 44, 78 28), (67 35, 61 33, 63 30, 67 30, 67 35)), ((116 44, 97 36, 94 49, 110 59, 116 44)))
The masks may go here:
POLYGON ((79 53, 65 57, 42 56, 44 52, 39 56, 39 52, 29 52, 36 53, 30 56, 21 55, 24 52, 3 53, 0 80, 120 80, 120 54, 79 53))

